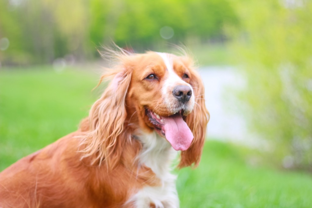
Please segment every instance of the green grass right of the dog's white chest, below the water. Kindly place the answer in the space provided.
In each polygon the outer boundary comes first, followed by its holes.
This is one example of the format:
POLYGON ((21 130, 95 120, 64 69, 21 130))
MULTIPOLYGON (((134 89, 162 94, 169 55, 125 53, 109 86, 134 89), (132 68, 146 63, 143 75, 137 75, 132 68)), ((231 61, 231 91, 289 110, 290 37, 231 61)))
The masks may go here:
POLYGON ((195 170, 178 176, 181 207, 311 207, 311 175, 246 163, 241 148, 207 141, 195 170))

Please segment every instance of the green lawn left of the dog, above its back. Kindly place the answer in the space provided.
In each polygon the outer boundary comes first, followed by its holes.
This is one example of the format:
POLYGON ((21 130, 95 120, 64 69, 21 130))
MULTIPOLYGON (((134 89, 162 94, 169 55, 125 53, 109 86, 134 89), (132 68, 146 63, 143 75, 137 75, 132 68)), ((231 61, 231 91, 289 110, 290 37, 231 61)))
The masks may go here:
POLYGON ((75 131, 98 77, 52 67, 0 71, 0 170, 75 131))

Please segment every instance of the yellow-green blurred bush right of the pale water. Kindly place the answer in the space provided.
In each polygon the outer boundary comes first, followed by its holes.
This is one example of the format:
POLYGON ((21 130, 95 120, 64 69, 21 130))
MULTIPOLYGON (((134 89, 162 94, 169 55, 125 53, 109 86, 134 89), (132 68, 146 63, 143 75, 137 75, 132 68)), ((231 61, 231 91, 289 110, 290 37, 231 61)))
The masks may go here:
POLYGON ((242 112, 272 141, 272 161, 312 171, 312 2, 233 1, 242 112))

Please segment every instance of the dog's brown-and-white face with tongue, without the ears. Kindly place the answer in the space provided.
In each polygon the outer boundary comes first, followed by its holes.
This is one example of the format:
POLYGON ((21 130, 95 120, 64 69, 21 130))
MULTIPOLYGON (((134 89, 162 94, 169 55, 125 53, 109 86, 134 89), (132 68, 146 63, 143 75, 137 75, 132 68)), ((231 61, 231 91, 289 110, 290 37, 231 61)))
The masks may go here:
POLYGON ((187 150, 193 134, 185 119, 195 105, 189 60, 149 52, 136 57, 132 67, 127 106, 138 113, 140 127, 156 131, 175 150, 187 150))

